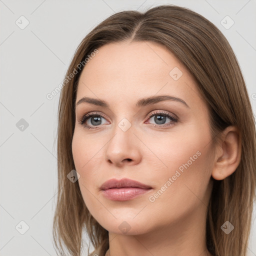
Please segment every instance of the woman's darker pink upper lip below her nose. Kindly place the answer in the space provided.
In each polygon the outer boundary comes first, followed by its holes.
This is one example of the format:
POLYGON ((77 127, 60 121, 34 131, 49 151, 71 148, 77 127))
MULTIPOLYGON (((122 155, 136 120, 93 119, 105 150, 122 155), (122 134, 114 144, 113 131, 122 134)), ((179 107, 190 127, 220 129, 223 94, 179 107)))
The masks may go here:
POLYGON ((120 187, 139 187, 139 188, 152 188, 148 185, 142 184, 136 180, 129 178, 122 178, 120 180, 116 178, 111 178, 105 181, 101 186, 101 190, 106 190, 108 188, 120 188, 120 187))

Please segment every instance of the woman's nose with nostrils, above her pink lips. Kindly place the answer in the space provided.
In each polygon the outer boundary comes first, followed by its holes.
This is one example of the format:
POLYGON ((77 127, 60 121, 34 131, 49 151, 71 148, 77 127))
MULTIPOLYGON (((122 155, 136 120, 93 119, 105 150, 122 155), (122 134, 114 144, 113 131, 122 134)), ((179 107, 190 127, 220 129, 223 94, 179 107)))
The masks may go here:
POLYGON ((114 135, 106 144, 105 149, 105 160, 109 164, 121 167, 141 161, 140 140, 133 132, 132 126, 124 131, 116 125, 114 135))

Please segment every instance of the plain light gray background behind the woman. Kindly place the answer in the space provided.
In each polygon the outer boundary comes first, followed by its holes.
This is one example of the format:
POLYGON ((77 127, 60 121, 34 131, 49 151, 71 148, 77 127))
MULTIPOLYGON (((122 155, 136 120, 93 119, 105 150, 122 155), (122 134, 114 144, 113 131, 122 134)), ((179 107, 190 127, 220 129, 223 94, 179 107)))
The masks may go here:
MULTIPOLYGON (((114 12, 163 3, 188 7, 224 33, 255 113, 255 0, 0 0, 0 255, 56 255, 51 227, 59 93, 51 100, 46 94, 61 83, 77 45, 114 12), (21 15, 29 21, 24 29, 15 24, 21 15), (226 15, 234 21, 229 29, 220 23, 226 15), (28 123, 23 131, 16 126, 21 118, 28 123), (29 226, 24 234, 15 229, 25 230, 21 220, 29 226)), ((255 207, 249 255, 256 255, 254 219, 255 207)))

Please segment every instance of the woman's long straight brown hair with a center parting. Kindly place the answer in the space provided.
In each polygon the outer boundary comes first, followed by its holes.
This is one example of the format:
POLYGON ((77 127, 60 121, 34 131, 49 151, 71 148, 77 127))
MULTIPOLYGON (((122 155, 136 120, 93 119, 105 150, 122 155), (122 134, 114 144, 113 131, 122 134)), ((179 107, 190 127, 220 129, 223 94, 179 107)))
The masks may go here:
MULTIPOLYGON (((58 195, 53 238, 60 255, 80 255, 83 231, 99 256, 104 256, 108 231, 98 224, 82 199, 78 182, 67 174, 74 169, 71 142, 74 102, 82 68, 79 63, 101 45, 120 41, 153 41, 167 47, 197 82, 210 113, 212 142, 229 125, 238 127, 241 160, 223 180, 214 180, 207 209, 206 242, 216 256, 245 256, 250 234, 256 178, 255 120, 235 54, 219 29, 203 16, 175 5, 160 5, 141 13, 120 11, 106 18, 81 41, 66 72, 58 106, 58 195), (70 78, 74 70, 77 73, 70 78), (221 225, 234 229, 227 235, 221 225), (67 252, 65 252, 65 250, 67 252)), ((85 66, 85 64, 83 65, 85 66)), ((88 249, 89 251, 89 249, 88 249)), ((92 255, 92 254, 91 254, 92 255)))

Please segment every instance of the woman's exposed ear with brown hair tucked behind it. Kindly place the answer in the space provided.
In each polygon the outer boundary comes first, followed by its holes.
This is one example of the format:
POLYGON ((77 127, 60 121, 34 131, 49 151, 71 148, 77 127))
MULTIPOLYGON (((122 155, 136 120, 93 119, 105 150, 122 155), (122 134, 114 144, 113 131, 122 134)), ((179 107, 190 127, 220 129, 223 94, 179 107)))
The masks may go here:
POLYGON ((217 180, 231 175, 237 168, 241 159, 241 138, 235 126, 228 126, 220 136, 216 145, 216 153, 212 169, 212 177, 217 180))

